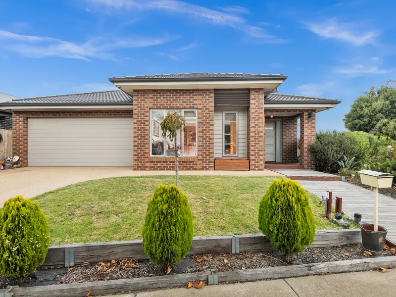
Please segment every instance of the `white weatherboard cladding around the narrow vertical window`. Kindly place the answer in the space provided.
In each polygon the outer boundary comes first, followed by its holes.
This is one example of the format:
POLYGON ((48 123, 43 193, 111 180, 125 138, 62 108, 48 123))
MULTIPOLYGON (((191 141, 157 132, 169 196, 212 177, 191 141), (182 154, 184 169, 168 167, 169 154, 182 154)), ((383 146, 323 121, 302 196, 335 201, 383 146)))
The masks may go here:
MULTIPOLYGON (((223 157, 223 111, 238 111, 238 157, 247 157, 247 107, 214 107, 214 157, 223 157)), ((230 156, 232 157, 232 156, 230 156)), ((235 157, 235 156, 233 156, 235 157)))

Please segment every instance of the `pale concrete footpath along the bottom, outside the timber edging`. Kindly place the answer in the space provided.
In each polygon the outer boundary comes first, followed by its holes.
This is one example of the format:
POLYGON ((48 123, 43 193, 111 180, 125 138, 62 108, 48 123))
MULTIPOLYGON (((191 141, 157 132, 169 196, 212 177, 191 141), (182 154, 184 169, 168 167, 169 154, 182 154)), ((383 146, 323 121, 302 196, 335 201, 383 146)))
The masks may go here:
MULTIPOLYGON (((112 297, 382 297, 396 296, 396 269, 284 280, 205 286, 199 290, 168 289, 112 297)), ((107 296, 111 297, 111 296, 107 296)))

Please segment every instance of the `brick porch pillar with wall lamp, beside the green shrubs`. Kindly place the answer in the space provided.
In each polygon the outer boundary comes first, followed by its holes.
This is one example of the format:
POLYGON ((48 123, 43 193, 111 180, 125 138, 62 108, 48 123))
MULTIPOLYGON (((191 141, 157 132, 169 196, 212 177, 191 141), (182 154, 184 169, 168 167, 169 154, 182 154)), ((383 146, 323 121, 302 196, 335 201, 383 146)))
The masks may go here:
POLYGON ((315 142, 316 138, 316 113, 314 110, 304 111, 300 115, 300 162, 305 169, 315 169, 315 161, 308 150, 308 146, 315 142), (315 118, 310 120, 308 113, 312 112, 315 118))

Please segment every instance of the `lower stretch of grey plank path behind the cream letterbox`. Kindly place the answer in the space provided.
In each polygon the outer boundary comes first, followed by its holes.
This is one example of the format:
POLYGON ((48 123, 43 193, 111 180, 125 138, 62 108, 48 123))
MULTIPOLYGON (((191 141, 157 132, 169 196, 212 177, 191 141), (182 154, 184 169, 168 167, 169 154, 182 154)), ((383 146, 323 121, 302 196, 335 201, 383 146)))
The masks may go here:
MULTIPOLYGON (((326 190, 343 198, 343 211, 353 217, 355 212, 361 213, 362 221, 374 223, 374 192, 346 182, 299 181, 305 190, 321 197, 326 190)), ((388 229, 387 238, 396 242, 396 199, 378 194, 378 221, 388 229)))

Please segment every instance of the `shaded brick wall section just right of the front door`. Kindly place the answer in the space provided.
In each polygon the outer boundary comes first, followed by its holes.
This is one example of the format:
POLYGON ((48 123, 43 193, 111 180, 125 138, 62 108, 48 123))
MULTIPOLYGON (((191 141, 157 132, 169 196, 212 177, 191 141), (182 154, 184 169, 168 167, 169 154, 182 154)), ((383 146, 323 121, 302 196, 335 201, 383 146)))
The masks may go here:
POLYGON ((282 162, 297 162, 297 117, 282 119, 282 162))

